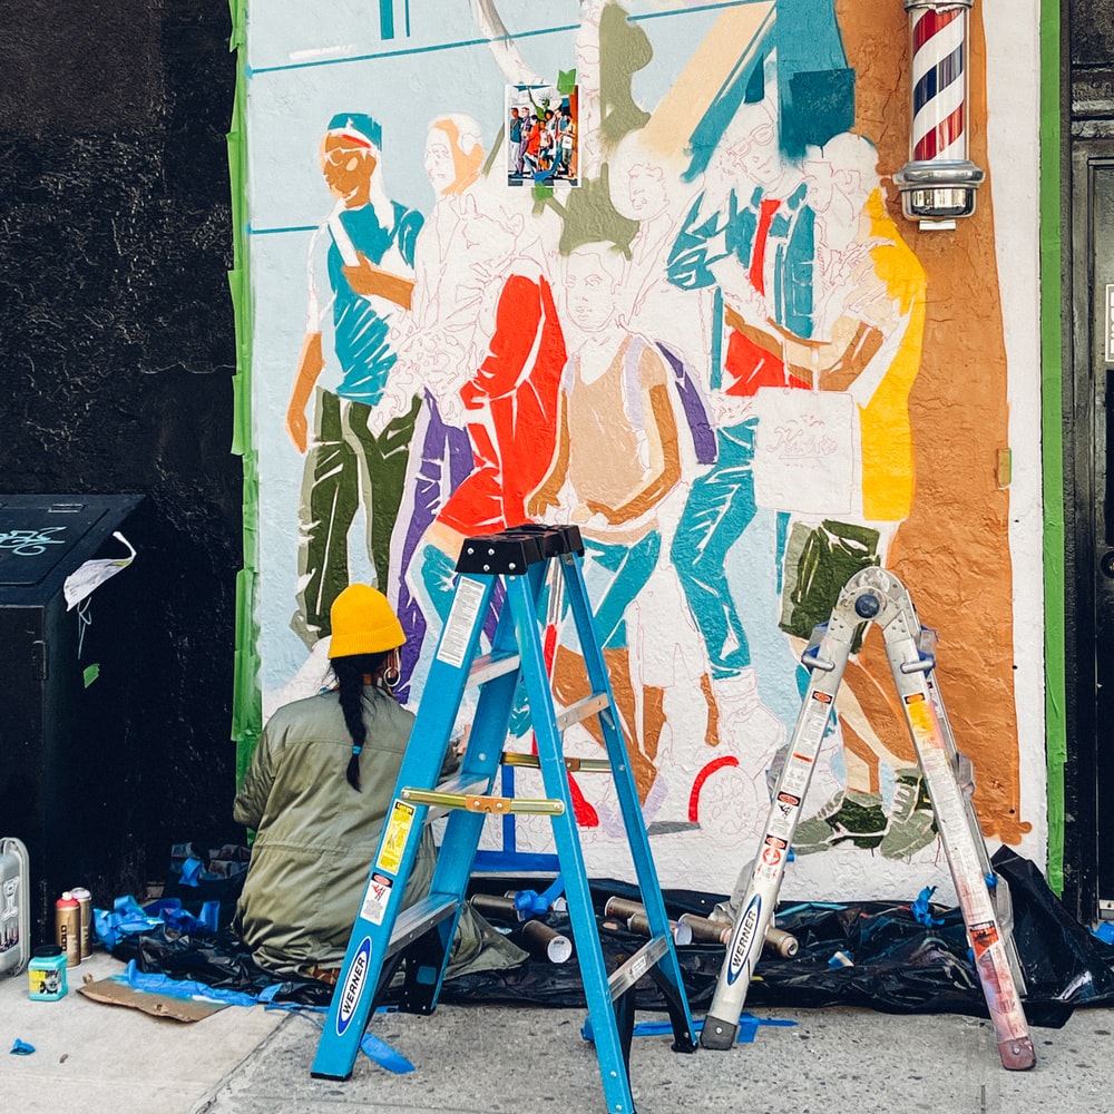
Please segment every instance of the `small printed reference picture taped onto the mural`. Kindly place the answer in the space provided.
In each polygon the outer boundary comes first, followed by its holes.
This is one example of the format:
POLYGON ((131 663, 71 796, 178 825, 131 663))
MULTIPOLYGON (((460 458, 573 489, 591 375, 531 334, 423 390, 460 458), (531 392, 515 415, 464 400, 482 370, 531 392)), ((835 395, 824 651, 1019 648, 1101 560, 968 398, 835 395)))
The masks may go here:
POLYGON ((577 94, 551 85, 507 86, 507 184, 577 180, 577 94))

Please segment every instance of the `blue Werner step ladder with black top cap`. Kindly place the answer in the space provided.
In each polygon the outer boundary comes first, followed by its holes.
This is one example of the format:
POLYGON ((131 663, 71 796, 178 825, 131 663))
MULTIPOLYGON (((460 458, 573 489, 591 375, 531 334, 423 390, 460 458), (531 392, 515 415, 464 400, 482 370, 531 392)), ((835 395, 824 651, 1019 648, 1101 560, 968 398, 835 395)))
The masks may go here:
POLYGON ((346 1079, 375 1005, 377 996, 401 966, 400 1009, 431 1014, 460 908, 488 815, 530 813, 553 822, 576 958, 588 1006, 604 1096, 609 1114, 634 1114, 629 1055, 634 1030, 634 987, 648 975, 665 999, 673 1026, 673 1051, 696 1049, 688 1000, 665 901, 651 856, 634 776, 619 730, 619 714, 604 665, 603 648, 584 584, 580 532, 575 526, 522 526, 488 537, 469 538, 457 563, 449 616, 418 709, 410 744, 399 771, 394 798, 352 928, 344 965, 333 993, 313 1061, 316 1078, 346 1079), (558 713, 543 651, 539 622, 547 574, 556 564, 576 624, 590 682, 588 696, 558 713), (485 620, 497 584, 505 597, 488 653, 480 653, 485 620), (532 755, 504 755, 515 693, 525 683, 537 766, 545 799, 491 795, 505 760, 532 764, 532 755), (438 784, 449 739, 469 686, 479 687, 476 714, 459 772, 438 784), (649 922, 649 939, 608 975, 584 854, 576 829, 568 771, 583 760, 565 759, 564 731, 588 716, 598 717, 607 764, 623 813, 631 856, 649 922), (525 760, 525 761, 524 761, 525 760), (401 909, 424 825, 448 813, 429 893, 401 909))

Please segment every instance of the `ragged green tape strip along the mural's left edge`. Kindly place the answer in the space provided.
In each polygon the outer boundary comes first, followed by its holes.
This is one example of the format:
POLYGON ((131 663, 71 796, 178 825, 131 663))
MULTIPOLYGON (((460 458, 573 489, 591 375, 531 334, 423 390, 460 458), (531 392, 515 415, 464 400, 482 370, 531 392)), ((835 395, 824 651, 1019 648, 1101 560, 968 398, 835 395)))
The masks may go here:
POLYGON ((258 555, 258 470, 252 438, 252 287, 247 257, 247 40, 246 0, 228 0, 236 53, 236 92, 228 131, 228 172, 232 184, 233 270, 228 287, 236 329, 236 374, 233 378, 232 451, 244 461, 244 567, 236 577, 236 652, 234 659, 232 740, 236 744, 236 784, 263 730, 260 694, 258 629, 255 584, 258 555))

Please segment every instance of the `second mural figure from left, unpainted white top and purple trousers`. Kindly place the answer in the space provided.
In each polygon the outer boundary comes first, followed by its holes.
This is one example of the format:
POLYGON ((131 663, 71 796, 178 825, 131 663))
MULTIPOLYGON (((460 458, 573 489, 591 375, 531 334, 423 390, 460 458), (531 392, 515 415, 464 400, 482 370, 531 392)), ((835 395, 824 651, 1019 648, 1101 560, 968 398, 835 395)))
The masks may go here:
POLYGON ((482 358, 489 333, 480 328, 482 284, 472 270, 477 250, 463 229, 477 212, 475 193, 485 184, 483 157, 472 117, 452 113, 430 125, 422 162, 437 201, 414 246, 411 311, 392 330, 399 372, 421 384, 424 402, 391 545, 395 576, 388 590, 409 633, 398 690, 403 701, 426 635, 426 616, 407 574, 444 500, 472 469, 460 389, 482 358))

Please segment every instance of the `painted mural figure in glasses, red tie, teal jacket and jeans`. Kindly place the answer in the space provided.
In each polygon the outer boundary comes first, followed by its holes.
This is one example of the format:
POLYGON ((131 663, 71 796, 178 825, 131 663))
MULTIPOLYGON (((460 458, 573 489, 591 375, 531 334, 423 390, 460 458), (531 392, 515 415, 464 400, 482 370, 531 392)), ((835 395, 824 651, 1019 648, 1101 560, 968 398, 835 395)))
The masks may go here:
POLYGON ((769 361, 747 339, 745 319, 756 313, 765 320, 765 311, 753 307, 769 290, 779 323, 798 334, 811 333, 810 292, 795 276, 811 265, 813 247, 805 186, 780 158, 773 111, 768 102, 743 106, 668 257, 668 276, 676 286, 716 292, 727 335, 722 371, 713 368, 709 382, 715 465, 693 481, 671 558, 703 636, 721 734, 746 740, 755 770, 773 758, 784 726, 759 697, 750 641, 727 570, 756 510, 754 394, 784 379, 780 361, 769 361))

